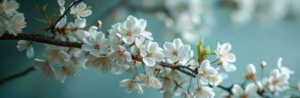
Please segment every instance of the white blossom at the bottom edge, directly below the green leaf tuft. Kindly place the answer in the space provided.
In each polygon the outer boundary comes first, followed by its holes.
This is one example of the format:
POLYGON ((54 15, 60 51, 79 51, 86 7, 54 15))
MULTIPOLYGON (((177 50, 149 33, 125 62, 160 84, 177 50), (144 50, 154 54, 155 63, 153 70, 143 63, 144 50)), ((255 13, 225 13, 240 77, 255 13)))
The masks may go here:
POLYGON ((214 89, 206 86, 198 87, 194 92, 193 98, 214 98, 216 96, 214 89))

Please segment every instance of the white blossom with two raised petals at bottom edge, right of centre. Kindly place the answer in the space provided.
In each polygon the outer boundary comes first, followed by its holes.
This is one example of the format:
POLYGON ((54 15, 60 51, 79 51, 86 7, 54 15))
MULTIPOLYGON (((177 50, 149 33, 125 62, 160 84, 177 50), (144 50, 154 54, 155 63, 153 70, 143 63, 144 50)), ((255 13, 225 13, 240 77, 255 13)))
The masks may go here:
POLYGON ((245 87, 245 90, 239 85, 233 85, 231 92, 233 93, 234 97, 237 98, 259 98, 257 95, 258 87, 255 83, 250 83, 245 87))

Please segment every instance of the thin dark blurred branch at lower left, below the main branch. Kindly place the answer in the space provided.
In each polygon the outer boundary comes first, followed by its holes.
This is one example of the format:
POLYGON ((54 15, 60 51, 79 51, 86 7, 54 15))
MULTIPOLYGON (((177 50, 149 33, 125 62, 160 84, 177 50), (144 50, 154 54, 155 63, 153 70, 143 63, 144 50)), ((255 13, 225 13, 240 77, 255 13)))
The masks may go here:
POLYGON ((27 73, 29 73, 29 72, 31 72, 31 71, 34 71, 34 67, 27 68, 26 70, 24 70, 24 71, 21 72, 21 73, 16 73, 16 74, 13 74, 13 75, 11 75, 11 76, 2 78, 2 79, 0 79, 0 84, 4 84, 5 82, 7 82, 7 81, 9 81, 9 80, 15 79, 15 78, 17 78, 17 77, 24 76, 24 75, 26 75, 27 73))

